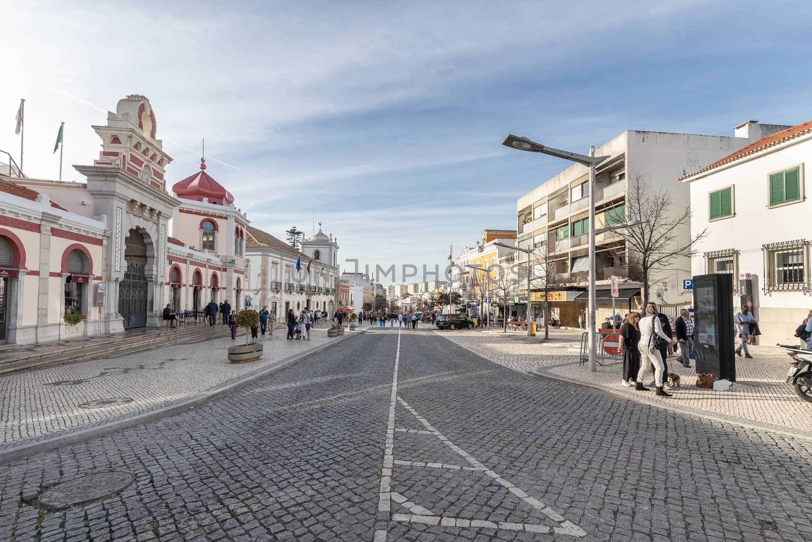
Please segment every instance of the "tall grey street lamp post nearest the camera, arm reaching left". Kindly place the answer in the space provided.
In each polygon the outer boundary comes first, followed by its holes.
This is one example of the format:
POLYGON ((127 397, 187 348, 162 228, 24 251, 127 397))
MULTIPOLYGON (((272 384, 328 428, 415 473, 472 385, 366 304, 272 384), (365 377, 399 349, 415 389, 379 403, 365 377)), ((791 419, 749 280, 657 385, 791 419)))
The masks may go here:
MULTIPOLYGON (((589 331, 587 336, 587 344, 589 345, 590 349, 590 372, 597 372, 598 371, 598 351, 597 351, 597 344, 595 342, 596 339, 596 327, 595 327, 595 167, 598 166, 599 163, 602 163, 604 160, 609 158, 608 156, 595 156, 595 148, 590 147, 590 155, 585 156, 584 154, 577 154, 571 153, 568 150, 560 150, 560 149, 553 149, 552 147, 547 147, 545 145, 541 145, 540 143, 536 143, 535 141, 530 141, 526 137, 518 137, 512 134, 508 134, 508 137, 505 137, 504 141, 502 141, 502 145, 506 147, 510 147, 512 149, 518 150, 525 150, 531 153, 542 153, 542 154, 549 154, 550 156, 555 156, 557 158, 564 158, 565 160, 569 160, 570 162, 580 163, 586 167, 590 168, 590 271, 589 271, 589 316, 588 324, 589 324, 589 331)), ((528 301, 529 300, 529 291, 528 291, 528 301)))

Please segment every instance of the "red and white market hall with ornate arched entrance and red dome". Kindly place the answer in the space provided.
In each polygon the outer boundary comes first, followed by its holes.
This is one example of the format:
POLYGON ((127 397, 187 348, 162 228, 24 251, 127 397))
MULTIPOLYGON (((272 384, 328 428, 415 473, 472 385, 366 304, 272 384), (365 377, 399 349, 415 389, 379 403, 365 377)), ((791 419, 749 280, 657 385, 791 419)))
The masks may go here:
POLYGON ((0 342, 156 327, 167 303, 244 306, 248 219, 202 161, 167 192, 157 127, 130 95, 93 126, 101 154, 76 166, 86 183, 0 176, 0 342))

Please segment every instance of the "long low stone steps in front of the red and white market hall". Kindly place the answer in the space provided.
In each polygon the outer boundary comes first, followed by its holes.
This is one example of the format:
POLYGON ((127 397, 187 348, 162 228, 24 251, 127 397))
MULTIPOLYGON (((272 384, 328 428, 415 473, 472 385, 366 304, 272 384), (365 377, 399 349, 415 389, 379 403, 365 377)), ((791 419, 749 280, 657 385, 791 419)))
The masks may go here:
MULTIPOLYGON (((19 356, 0 361, 0 374, 26 371, 62 363, 80 362, 92 358, 110 358, 119 353, 137 353, 163 346, 191 344, 201 340, 230 336, 230 330, 219 323, 214 327, 205 324, 180 327, 179 329, 147 329, 125 332, 122 335, 102 337, 99 341, 65 341, 54 348, 40 352, 20 353, 19 356)), ((4 356, 7 358, 7 356, 4 356)))

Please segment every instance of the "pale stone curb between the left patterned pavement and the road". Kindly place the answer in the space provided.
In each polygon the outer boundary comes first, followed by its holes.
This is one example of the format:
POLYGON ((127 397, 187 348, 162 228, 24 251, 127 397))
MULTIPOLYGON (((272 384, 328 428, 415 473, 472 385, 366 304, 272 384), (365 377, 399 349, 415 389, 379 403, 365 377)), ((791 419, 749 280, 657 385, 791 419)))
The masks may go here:
POLYGON ((282 371, 288 366, 292 366, 296 362, 300 362, 305 358, 313 356, 314 354, 321 353, 326 349, 330 349, 333 346, 338 345, 344 340, 348 340, 352 336, 361 335, 364 332, 365 331, 363 330, 362 331, 356 330, 354 332, 345 332, 343 336, 335 337, 335 340, 332 340, 330 343, 327 343, 326 345, 321 345, 317 346, 316 348, 306 350, 300 354, 297 354, 292 358, 283 360, 282 362, 279 362, 275 365, 267 366, 264 369, 261 369, 258 372, 249 374, 247 376, 241 376, 237 377, 236 379, 227 380, 225 383, 221 384, 218 388, 209 389, 206 390, 205 392, 197 394, 196 396, 189 397, 187 399, 182 399, 180 402, 175 403, 173 405, 165 406, 162 408, 159 407, 158 410, 153 410, 142 414, 136 414, 132 417, 116 420, 111 423, 101 423, 100 425, 88 427, 86 429, 80 429, 78 431, 71 431, 67 434, 53 436, 50 438, 46 438, 44 440, 37 441, 36 443, 32 444, 21 444, 10 446, 5 450, 0 449, 0 463, 10 462, 14 459, 19 459, 20 457, 31 457, 32 455, 45 453, 48 450, 58 448, 59 446, 63 446, 66 444, 76 444, 83 440, 93 438, 94 436, 105 435, 106 433, 119 431, 127 427, 140 425, 141 423, 152 422, 159 418, 170 416, 171 414, 178 414, 179 412, 183 412, 184 410, 188 410, 194 406, 202 405, 205 402, 211 401, 212 399, 217 399, 218 397, 222 397, 224 395, 228 395, 231 392, 235 392, 236 390, 243 388, 248 384, 252 384, 254 381, 258 379, 264 378, 268 375, 273 375, 275 372, 282 371))

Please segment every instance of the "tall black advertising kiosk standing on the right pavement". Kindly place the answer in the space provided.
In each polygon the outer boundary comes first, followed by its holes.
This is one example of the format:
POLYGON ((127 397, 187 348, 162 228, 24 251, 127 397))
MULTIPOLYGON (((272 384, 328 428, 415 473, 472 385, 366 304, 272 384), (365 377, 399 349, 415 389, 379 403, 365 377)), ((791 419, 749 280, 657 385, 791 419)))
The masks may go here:
POLYGON ((733 325, 733 275, 693 277, 693 317, 697 373, 736 381, 736 329, 733 325))

